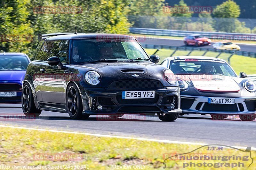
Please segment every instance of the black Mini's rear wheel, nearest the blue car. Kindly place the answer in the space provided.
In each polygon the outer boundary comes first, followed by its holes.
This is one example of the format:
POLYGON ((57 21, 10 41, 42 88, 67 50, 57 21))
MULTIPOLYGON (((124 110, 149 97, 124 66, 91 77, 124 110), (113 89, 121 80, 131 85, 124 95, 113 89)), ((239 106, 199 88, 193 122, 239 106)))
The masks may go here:
POLYGON ((23 84, 21 95, 21 106, 24 115, 26 116, 39 116, 42 110, 36 109, 32 90, 28 82, 23 84))

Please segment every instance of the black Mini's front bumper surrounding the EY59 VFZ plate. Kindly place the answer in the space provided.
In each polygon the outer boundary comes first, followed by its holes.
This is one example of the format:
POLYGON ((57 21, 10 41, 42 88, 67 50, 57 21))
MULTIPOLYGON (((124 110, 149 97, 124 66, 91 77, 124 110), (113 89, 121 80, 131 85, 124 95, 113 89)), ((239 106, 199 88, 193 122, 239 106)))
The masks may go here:
POLYGON ((84 89, 82 96, 83 114, 136 114, 136 113, 181 113, 179 87, 165 87, 155 91, 152 99, 122 99, 123 91, 146 90, 107 90, 102 88, 84 89), (174 106, 174 107, 173 107, 174 106))

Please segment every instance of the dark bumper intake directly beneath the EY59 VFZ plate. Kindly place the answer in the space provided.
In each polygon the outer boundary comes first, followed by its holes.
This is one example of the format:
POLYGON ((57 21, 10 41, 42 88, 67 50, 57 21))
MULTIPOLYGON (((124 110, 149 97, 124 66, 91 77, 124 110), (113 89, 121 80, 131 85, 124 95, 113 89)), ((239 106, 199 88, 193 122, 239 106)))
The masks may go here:
POLYGON ((155 98, 149 99, 122 99, 122 95, 116 96, 119 104, 154 104, 158 101, 159 95, 155 94, 155 98))

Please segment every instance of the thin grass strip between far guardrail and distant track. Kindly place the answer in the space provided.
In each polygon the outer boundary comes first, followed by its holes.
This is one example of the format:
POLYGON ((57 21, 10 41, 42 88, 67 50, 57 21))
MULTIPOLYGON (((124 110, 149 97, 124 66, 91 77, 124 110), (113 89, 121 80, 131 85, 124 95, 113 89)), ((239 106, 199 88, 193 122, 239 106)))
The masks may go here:
MULTIPOLYGON (((139 36, 139 37, 149 37, 149 38, 169 38, 169 39, 175 39, 175 40, 183 40, 184 37, 177 37, 177 36, 166 36, 166 35, 149 35, 149 34, 134 34, 134 33, 129 33, 128 35, 132 35, 132 36, 139 36)), ((229 41, 229 40, 212 40, 212 42, 220 42, 220 41, 229 41)), ((239 41, 239 40, 230 40, 234 43, 245 43, 245 44, 252 44, 252 45, 256 45, 256 41, 239 41)))

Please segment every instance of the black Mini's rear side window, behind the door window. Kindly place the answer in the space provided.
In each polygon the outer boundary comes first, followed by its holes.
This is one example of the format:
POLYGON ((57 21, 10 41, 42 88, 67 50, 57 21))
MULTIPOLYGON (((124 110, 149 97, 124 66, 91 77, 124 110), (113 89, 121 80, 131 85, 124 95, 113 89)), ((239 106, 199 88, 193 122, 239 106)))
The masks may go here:
POLYGON ((36 55, 36 60, 47 61, 54 41, 44 41, 43 46, 36 55))

